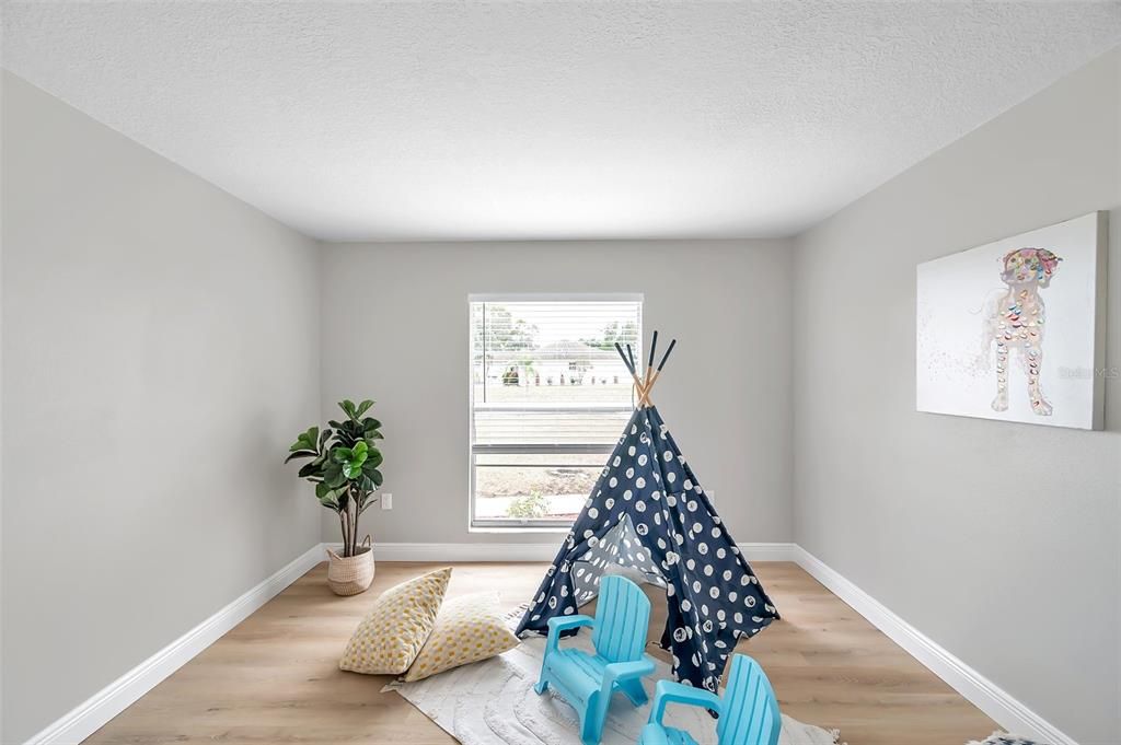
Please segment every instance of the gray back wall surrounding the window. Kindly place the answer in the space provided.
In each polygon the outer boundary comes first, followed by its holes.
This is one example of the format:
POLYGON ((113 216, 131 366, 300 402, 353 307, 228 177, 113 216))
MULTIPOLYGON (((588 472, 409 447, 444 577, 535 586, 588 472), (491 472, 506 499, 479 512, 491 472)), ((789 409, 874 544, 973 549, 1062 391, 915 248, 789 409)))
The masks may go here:
POLYGON ((782 241, 325 246, 323 409, 369 397, 385 422, 393 510, 365 527, 382 542, 554 541, 467 532, 467 295, 643 292, 647 334, 678 338, 655 399, 682 450, 736 540, 790 540, 790 270, 782 241))

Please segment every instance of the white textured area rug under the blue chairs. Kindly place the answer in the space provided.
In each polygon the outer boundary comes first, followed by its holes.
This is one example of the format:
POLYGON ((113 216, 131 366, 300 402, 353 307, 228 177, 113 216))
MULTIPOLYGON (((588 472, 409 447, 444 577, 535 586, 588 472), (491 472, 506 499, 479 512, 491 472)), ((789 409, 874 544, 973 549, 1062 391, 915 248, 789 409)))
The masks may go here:
MULTIPOLYGON (((590 649, 590 634, 565 640, 590 649)), ((538 696, 534 683, 541 669, 545 639, 532 636, 497 658, 433 676, 415 683, 395 682, 396 690, 463 745, 578 745, 576 713, 552 692, 538 696)), ((655 681, 670 678, 660 660, 652 678, 643 680, 654 699, 655 681)), ((603 745, 634 745, 650 716, 650 705, 636 709, 615 696, 603 728, 603 745)), ((670 706, 665 723, 687 729, 701 745, 715 745, 716 720, 707 713, 670 706)), ((779 745, 835 745, 839 733, 804 725, 782 715, 779 745)))

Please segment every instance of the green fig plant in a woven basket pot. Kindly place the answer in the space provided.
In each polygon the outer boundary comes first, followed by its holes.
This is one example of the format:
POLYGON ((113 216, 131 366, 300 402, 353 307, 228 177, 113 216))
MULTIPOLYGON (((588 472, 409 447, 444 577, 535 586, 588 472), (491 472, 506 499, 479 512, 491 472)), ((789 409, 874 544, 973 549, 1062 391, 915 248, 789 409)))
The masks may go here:
POLYGON ((340 401, 346 418, 331 420, 322 431, 312 427, 288 448, 289 460, 305 459, 299 477, 315 484, 319 504, 339 515, 343 534, 342 556, 327 549, 327 584, 337 595, 358 595, 373 581, 373 549, 370 536, 360 543, 358 522, 367 507, 377 503, 381 486, 381 422, 365 416, 373 401, 340 401))

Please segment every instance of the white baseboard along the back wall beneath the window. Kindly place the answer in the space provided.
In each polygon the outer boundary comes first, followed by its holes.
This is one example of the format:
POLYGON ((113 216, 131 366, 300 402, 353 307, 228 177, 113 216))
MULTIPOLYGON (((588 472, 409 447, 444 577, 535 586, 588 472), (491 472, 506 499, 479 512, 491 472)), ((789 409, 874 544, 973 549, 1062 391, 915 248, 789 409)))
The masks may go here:
MULTIPOLYGON (((547 543, 374 543, 376 561, 552 561, 563 537, 547 543)), ((337 550, 341 544, 328 543, 337 550)), ((794 543, 740 543, 748 561, 794 561, 794 543)))

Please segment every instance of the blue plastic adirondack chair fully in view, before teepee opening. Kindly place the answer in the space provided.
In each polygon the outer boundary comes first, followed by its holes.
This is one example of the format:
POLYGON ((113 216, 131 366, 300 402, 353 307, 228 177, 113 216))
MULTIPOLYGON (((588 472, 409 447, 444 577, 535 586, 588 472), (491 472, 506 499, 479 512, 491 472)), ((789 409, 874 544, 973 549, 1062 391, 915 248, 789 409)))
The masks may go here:
POLYGON ((594 620, 584 615, 549 618, 541 677, 534 690, 544 693, 552 686, 576 709, 584 745, 600 742, 612 693, 622 691, 634 706, 647 702, 642 676, 654 672, 654 660, 642 648, 649 623, 646 593, 618 575, 600 583, 594 620), (594 655, 558 645, 560 632, 581 626, 592 626, 594 655))

